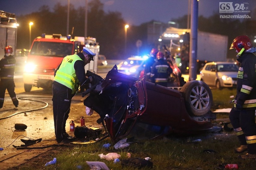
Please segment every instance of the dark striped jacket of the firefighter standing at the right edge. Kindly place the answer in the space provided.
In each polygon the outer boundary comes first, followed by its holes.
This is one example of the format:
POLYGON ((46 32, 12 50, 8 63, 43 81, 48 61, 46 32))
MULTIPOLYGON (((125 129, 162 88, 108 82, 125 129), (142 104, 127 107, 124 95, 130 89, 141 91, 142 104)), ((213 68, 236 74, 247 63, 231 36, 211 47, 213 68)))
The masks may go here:
POLYGON ((237 59, 241 63, 237 74, 235 105, 244 110, 256 109, 256 56, 247 50, 237 59))

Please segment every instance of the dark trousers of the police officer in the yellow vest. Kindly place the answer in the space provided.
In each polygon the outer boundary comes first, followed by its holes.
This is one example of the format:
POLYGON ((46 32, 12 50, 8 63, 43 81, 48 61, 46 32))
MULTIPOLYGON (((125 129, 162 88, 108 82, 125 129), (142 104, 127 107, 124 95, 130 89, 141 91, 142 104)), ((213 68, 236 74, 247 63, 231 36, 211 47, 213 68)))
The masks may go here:
POLYGON ((62 141, 66 133, 66 121, 69 118, 71 99, 74 96, 68 87, 53 81, 53 119, 56 140, 62 141))

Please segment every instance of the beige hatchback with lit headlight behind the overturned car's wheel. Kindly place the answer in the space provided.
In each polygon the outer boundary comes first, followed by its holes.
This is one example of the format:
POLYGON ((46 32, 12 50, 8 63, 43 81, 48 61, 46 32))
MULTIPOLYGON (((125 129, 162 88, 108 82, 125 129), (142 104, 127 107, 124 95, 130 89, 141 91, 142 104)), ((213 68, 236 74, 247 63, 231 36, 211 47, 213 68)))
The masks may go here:
POLYGON ((200 72, 200 80, 218 89, 235 87, 239 66, 231 62, 206 63, 200 72))

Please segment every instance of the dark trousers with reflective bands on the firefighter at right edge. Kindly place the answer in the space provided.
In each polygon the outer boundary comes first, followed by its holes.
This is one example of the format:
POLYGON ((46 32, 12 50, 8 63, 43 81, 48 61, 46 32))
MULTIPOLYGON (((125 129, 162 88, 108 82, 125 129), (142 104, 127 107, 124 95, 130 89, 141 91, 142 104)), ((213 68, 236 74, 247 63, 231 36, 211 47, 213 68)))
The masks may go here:
POLYGON ((240 144, 247 144, 248 153, 256 154, 255 110, 237 111, 233 107, 229 113, 229 119, 240 144))

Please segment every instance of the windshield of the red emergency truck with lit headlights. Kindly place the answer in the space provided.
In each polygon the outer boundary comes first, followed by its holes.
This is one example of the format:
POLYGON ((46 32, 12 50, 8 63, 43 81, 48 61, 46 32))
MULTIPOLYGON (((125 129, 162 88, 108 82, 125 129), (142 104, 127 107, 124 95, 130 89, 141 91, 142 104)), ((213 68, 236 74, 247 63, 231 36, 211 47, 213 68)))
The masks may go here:
POLYGON ((36 41, 33 43, 30 55, 66 57, 72 55, 72 46, 70 43, 36 41))

